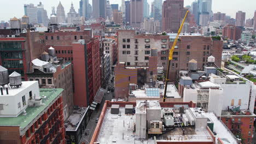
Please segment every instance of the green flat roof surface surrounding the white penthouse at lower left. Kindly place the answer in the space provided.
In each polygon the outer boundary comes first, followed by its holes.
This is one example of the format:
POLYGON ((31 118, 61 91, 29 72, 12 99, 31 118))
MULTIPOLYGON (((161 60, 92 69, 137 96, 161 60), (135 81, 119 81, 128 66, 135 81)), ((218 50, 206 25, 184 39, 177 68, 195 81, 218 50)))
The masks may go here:
MULTIPOLYGON (((29 84, 31 82, 34 81, 28 81, 26 83, 29 84)), ((22 82, 22 87, 24 87, 26 83, 22 82)), ((18 89, 22 88, 20 87, 18 89)), ((20 127, 20 130, 23 130, 28 124, 35 121, 39 115, 43 115, 46 107, 48 107, 62 93, 62 91, 62 88, 40 89, 40 97, 43 98, 43 105, 38 107, 27 107, 27 115, 20 114, 18 117, 0 117, 0 126, 17 126, 20 127)))

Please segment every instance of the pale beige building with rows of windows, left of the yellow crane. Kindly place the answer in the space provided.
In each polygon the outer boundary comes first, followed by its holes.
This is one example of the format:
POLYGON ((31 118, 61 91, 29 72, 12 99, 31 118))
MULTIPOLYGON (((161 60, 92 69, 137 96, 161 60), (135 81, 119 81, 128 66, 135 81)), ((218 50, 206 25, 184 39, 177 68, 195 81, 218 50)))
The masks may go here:
POLYGON ((118 61, 129 66, 147 66, 150 51, 158 50, 158 64, 167 64, 170 42, 168 35, 136 34, 133 30, 118 31, 118 61), (165 58, 161 58, 165 56, 165 58))

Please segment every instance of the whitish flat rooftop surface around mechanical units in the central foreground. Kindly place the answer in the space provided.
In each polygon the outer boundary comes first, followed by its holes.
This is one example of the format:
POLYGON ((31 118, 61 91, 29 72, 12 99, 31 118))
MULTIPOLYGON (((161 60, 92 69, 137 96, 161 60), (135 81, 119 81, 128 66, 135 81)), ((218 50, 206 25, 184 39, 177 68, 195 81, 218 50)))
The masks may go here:
MULTIPOLYGON (((170 108, 172 109, 172 108, 170 108)), ((100 143, 141 143, 140 139, 135 139, 134 123, 136 115, 125 115, 125 107, 120 107, 120 115, 110 113, 110 107, 107 108, 106 114, 97 136, 97 142, 100 143)), ((205 117, 210 118, 214 122, 213 131, 217 133, 218 138, 227 140, 232 144, 237 143, 234 135, 225 128, 213 113, 204 113, 205 117)), ((173 128, 161 136, 156 136, 157 142, 212 142, 213 137, 208 130, 195 130, 193 127, 173 128), (185 136, 183 136, 183 130, 185 136), (168 138, 170 136, 170 138, 168 138)), ((146 139, 144 143, 155 144, 154 139, 146 139)))

